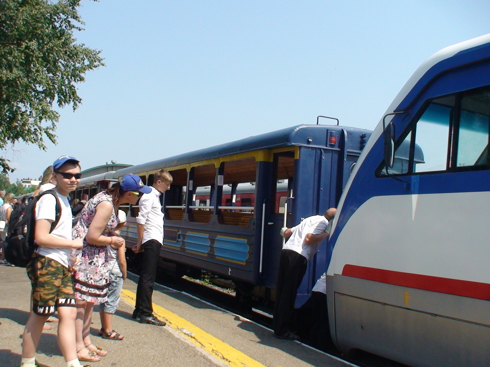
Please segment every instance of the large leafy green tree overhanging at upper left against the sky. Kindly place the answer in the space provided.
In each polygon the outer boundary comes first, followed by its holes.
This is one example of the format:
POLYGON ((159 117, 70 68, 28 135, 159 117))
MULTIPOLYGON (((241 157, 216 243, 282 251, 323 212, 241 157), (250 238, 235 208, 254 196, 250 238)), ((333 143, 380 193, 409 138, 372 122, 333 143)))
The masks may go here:
MULTIPOLYGON (((77 44, 80 0, 0 0, 0 149, 23 140, 56 143, 61 108, 81 103, 75 83, 104 65, 98 50, 77 44)), ((0 169, 12 171, 0 157, 0 169)))

